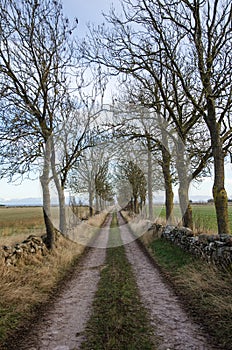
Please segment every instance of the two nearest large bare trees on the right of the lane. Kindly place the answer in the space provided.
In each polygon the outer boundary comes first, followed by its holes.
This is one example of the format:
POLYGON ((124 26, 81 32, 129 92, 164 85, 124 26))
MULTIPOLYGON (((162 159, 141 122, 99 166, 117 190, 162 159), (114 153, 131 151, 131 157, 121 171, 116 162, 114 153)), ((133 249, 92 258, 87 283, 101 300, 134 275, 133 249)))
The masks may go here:
MULTIPOLYGON (((212 157, 218 232, 227 233, 224 159, 232 133, 231 1, 123 0, 121 4, 119 14, 112 8, 105 15, 108 26, 90 27, 81 45, 83 58, 107 67, 122 77, 122 83, 129 82, 133 103, 153 109, 176 131, 179 200, 186 226, 192 227, 189 184, 212 157), (202 133, 209 144, 199 152, 202 133), (190 172, 186 159, 194 164, 190 172)), ((167 170, 166 162, 163 159, 167 170)))

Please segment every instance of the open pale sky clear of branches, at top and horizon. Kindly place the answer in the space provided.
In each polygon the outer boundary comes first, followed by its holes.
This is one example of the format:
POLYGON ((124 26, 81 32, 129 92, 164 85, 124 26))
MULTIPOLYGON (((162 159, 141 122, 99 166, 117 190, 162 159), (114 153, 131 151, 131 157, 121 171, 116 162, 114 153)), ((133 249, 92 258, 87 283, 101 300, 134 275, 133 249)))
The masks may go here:
MULTIPOLYGON (((108 12, 111 4, 120 9, 119 0, 64 0, 64 13, 70 20, 78 18, 77 33, 84 37, 87 32, 87 23, 101 24, 104 20, 102 12, 108 12)), ((225 174, 226 190, 228 196, 232 198, 232 164, 226 165, 225 174)), ((212 198, 213 178, 209 177, 200 184, 194 184, 190 188, 190 199, 207 200, 212 198)), ((177 189, 175 190, 177 194, 177 189)), ((12 184, 7 180, 0 180, 0 204, 1 201, 22 199, 22 198, 41 198, 42 191, 37 180, 24 180, 12 184)), ((177 197, 176 197, 177 198, 177 197)))

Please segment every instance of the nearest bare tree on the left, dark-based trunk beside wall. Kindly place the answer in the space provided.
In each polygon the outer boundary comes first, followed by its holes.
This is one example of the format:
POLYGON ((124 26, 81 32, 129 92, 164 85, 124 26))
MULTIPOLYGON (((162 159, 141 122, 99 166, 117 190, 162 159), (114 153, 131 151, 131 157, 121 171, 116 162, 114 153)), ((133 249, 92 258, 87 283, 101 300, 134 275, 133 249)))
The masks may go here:
MULTIPOLYGON (((49 248, 54 239, 49 195, 50 136, 67 89, 73 29, 59 1, 6 0, 0 4, 0 96, 5 108, 14 106, 17 111, 7 116, 12 129, 16 123, 30 135, 33 130, 40 154, 43 151, 40 182, 49 248)), ((17 132, 20 135, 20 129, 17 132)), ((27 153, 25 159, 29 158, 27 153)))

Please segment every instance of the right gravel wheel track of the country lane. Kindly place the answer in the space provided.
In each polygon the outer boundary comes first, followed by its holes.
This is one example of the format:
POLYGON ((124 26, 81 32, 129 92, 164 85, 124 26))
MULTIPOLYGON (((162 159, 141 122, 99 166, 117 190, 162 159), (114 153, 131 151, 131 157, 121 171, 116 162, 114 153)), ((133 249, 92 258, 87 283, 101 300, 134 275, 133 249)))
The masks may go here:
MULTIPOLYGON (((144 306, 148 309, 154 333, 160 339, 157 350, 216 350, 207 335, 183 310, 177 296, 167 285, 150 258, 144 254, 124 220, 118 222, 126 254, 137 279, 144 306)), ((219 350, 219 348, 217 348, 219 350)))

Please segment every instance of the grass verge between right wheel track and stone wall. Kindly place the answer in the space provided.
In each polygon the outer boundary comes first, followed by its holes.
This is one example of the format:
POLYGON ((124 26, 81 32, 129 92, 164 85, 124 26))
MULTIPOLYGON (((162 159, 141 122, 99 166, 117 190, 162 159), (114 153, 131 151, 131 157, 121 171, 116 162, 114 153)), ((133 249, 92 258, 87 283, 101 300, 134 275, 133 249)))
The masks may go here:
MULTIPOLYGON (((146 239, 142 237, 142 241, 146 242, 146 239)), ((147 249, 192 317, 204 326, 218 346, 231 350, 231 274, 192 257, 163 239, 153 240, 147 249)))

